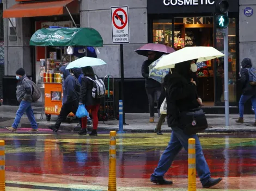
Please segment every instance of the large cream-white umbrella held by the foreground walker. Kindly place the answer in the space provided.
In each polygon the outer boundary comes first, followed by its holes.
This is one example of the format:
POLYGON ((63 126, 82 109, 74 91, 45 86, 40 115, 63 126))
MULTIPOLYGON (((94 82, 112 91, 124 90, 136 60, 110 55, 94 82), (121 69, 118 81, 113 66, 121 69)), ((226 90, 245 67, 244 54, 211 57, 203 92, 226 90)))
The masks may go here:
POLYGON ((198 59, 197 62, 204 62, 225 56, 214 47, 185 47, 172 54, 164 56, 155 69, 174 68, 176 63, 198 59))

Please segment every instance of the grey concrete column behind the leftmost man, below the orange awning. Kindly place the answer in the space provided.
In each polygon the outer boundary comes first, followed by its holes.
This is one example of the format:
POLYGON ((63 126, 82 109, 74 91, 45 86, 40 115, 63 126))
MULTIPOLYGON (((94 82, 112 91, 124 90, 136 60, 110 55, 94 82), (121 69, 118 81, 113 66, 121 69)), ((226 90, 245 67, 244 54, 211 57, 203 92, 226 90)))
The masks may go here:
MULTIPOLYGON (((3 0, 3 8, 8 9, 16 4, 15 0, 3 0)), ((16 69, 23 67, 27 75, 32 75, 30 18, 16 18, 16 31, 19 37, 11 34, 11 24, 8 18, 4 18, 4 74, 15 75, 16 69)))

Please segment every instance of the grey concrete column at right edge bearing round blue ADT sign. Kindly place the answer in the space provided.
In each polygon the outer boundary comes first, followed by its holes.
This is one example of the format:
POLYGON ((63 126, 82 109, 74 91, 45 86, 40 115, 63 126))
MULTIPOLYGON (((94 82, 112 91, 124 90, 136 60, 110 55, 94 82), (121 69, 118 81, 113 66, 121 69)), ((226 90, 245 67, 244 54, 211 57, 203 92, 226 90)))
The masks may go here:
POLYGON ((252 59, 253 67, 256 67, 256 1, 240 0, 239 1, 239 40, 240 40, 240 62, 244 58, 252 59), (244 10, 250 7, 254 14, 247 17, 244 10))

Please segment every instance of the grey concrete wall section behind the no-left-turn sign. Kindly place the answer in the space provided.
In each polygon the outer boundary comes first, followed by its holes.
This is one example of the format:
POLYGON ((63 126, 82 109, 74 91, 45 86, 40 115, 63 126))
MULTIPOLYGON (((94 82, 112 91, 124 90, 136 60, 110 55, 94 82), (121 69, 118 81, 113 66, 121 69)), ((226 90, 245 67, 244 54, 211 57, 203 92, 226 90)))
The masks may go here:
POLYGON ((142 78, 141 66, 146 59, 134 52, 148 43, 147 0, 83 0, 80 4, 81 27, 91 27, 99 31, 103 47, 99 48, 99 58, 107 66, 95 67, 99 77, 113 75, 120 78, 120 45, 112 44, 111 7, 129 6, 130 43, 124 44, 124 77, 142 78))

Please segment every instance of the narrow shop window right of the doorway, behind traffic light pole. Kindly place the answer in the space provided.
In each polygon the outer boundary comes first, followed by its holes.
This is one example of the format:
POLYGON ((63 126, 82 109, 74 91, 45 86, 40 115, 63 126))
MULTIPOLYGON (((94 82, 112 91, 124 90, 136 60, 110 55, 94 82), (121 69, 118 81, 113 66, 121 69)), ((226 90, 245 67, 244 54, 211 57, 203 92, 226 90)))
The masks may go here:
MULTIPOLYGON (((229 102, 236 103, 236 26, 235 18, 229 18, 228 26, 228 77, 229 77, 229 102)), ((216 32, 216 48, 224 53, 223 34, 216 32)), ((224 58, 216 62, 216 105, 224 102, 224 58)))

